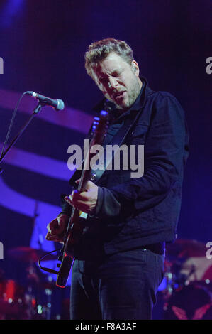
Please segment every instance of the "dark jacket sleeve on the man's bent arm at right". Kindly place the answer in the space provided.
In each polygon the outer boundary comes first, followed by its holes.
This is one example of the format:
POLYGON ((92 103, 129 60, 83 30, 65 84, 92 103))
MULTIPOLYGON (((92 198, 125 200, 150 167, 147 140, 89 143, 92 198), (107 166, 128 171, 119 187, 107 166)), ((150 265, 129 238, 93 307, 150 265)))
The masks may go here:
POLYGON ((182 173, 186 126, 181 105, 172 95, 156 99, 144 145, 144 173, 111 188, 101 188, 96 215, 109 218, 126 206, 147 210, 160 203, 182 173))

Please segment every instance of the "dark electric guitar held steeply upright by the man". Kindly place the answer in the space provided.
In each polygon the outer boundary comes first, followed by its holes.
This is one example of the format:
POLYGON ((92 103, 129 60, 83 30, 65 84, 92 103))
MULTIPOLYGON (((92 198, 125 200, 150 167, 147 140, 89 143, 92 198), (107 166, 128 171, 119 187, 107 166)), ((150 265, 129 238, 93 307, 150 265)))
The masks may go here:
MULTIPOLYGON (((101 145, 104 141, 104 136, 106 134, 108 126, 108 114, 105 111, 102 111, 100 117, 94 118, 93 124, 93 136, 91 139, 91 144, 89 152, 84 161, 84 169, 82 171, 82 176, 77 190, 82 192, 86 189, 87 181, 91 178, 91 168, 90 160, 94 154, 90 154, 90 149, 94 145, 101 145)), ((82 236, 84 230, 84 218, 81 218, 81 212, 76 208, 72 209, 72 215, 69 218, 67 225, 67 232, 64 238, 64 244, 60 251, 60 256, 58 260, 60 263, 57 266, 60 268, 57 274, 56 285, 60 288, 64 288, 67 285, 67 280, 69 278, 69 273, 72 268, 72 262, 74 259, 74 245, 79 243, 79 239, 82 236)))

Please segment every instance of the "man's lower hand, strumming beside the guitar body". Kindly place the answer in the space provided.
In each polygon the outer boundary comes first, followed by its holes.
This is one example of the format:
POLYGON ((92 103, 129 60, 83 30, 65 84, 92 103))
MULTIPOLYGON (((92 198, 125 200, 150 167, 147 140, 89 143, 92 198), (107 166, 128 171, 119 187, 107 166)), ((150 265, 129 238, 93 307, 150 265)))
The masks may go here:
POLYGON ((47 226, 48 233, 45 236, 45 239, 49 241, 62 242, 66 232, 68 220, 69 218, 67 215, 60 215, 52 220, 47 226))

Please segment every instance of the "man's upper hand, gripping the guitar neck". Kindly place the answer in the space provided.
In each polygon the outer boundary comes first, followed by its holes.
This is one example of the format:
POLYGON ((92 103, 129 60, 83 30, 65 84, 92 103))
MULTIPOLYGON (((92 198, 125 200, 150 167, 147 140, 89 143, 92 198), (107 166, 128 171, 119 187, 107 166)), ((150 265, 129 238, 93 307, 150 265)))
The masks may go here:
MULTIPOLYGON (((76 183, 79 184, 79 180, 77 180, 76 183)), ((65 197, 65 201, 79 211, 91 213, 94 212, 96 208, 97 197, 98 186, 93 182, 88 181, 87 187, 82 193, 79 193, 78 190, 73 190, 69 197, 65 197)))

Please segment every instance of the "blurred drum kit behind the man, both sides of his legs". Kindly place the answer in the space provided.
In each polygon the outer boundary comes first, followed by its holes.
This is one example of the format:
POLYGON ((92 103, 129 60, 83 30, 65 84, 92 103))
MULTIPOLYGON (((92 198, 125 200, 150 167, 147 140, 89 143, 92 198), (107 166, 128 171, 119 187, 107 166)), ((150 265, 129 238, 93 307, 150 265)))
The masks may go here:
MULTIPOLYGON (((55 282, 51 276, 41 282, 36 263, 41 257, 48 261, 57 257, 30 247, 10 249, 9 257, 27 264, 26 284, 3 279, 0 272, 0 320, 51 319, 55 282)), ((190 239, 167 244, 160 296, 163 319, 212 319, 212 259, 206 257, 205 244, 190 239)))

